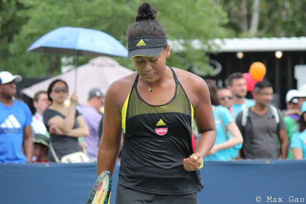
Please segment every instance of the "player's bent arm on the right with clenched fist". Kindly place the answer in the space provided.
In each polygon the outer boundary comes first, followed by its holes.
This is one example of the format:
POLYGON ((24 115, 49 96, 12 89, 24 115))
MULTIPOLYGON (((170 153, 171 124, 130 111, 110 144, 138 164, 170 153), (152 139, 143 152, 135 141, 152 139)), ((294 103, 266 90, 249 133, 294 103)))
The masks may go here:
POLYGON ((199 169, 203 164, 203 158, 208 155, 216 140, 216 124, 208 87, 201 78, 197 77, 193 81, 195 87, 191 96, 195 99, 193 100, 194 117, 200 135, 197 139, 195 153, 183 160, 184 168, 188 171, 199 169))

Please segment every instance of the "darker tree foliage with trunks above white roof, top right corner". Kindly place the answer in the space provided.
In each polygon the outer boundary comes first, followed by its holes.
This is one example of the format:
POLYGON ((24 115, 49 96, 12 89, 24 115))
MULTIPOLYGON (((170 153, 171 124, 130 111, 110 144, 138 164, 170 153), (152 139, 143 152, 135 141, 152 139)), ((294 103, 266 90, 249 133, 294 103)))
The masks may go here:
POLYGON ((306 0, 260 0, 256 33, 250 32, 255 0, 216 2, 228 14, 226 27, 237 37, 300 37, 306 34, 306 0))

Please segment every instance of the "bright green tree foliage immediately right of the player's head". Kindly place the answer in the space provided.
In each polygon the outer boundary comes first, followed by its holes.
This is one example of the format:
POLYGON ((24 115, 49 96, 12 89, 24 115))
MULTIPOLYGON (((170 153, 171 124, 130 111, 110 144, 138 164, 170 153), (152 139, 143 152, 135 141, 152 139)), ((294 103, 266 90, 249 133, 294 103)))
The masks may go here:
POLYGON ((213 1, 174 1, 170 8, 167 1, 155 2, 169 39, 178 40, 184 47, 184 50, 173 53, 168 60, 169 65, 209 74, 209 67, 206 66, 208 58, 203 50, 212 51, 210 39, 230 35, 222 27, 227 23, 226 13, 213 1))

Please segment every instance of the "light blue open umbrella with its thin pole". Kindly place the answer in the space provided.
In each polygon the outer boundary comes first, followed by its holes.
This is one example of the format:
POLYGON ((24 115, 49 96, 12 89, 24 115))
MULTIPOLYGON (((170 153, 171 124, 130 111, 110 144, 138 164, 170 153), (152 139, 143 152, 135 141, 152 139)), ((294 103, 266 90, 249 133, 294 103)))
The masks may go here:
POLYGON ((127 56, 127 50, 112 36, 101 31, 74 27, 62 27, 47 33, 35 41, 28 51, 75 55, 76 67, 79 56, 127 56))

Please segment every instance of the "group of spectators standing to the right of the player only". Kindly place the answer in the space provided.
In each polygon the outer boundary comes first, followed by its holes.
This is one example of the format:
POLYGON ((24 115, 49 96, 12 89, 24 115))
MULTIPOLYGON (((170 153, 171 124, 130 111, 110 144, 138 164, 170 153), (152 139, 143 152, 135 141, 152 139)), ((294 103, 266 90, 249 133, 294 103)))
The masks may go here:
POLYGON ((241 73, 231 74, 227 87, 219 90, 213 81, 206 82, 217 127, 215 147, 226 146, 211 151, 206 159, 306 159, 306 84, 287 92, 287 107, 281 111, 272 105, 273 87, 267 80, 255 84, 253 99, 245 98, 247 85, 241 73), (228 145, 234 137, 230 123, 238 127, 243 142, 228 145), (226 157, 218 157, 225 151, 226 157))

